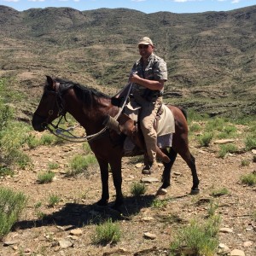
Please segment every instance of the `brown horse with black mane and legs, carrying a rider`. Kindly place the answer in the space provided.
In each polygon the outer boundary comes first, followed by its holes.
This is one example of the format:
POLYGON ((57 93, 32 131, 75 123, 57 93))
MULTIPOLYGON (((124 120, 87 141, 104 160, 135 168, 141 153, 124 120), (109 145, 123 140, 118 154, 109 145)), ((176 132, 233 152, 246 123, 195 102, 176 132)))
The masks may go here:
MULTIPOLYGON (((166 189, 171 183, 172 165, 180 154, 188 164, 193 177, 191 194, 199 193, 199 179, 195 168, 195 158, 189 152, 188 125, 183 112, 174 106, 168 106, 175 119, 175 133, 172 137, 172 148, 161 150, 169 156, 171 161, 164 163, 162 185, 160 189, 166 189)), ((108 204, 108 164, 113 173, 113 184, 116 189, 114 207, 123 203, 121 159, 124 156, 124 135, 116 131, 104 129, 103 122, 108 115, 115 116, 119 108, 111 103, 111 97, 105 94, 75 84, 64 79, 51 79, 47 77, 44 86, 44 94, 32 117, 32 126, 36 131, 44 131, 57 117, 70 113, 82 125, 86 131, 90 148, 96 155, 101 169, 102 198, 98 205, 108 204)))

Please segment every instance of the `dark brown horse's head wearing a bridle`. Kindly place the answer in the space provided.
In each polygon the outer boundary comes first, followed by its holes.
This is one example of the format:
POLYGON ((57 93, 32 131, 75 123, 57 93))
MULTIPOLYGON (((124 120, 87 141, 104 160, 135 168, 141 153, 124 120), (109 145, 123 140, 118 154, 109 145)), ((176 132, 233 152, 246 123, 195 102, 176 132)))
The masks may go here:
POLYGON ((59 83, 47 76, 44 94, 32 117, 32 126, 35 131, 44 131, 63 112, 59 87, 59 83))

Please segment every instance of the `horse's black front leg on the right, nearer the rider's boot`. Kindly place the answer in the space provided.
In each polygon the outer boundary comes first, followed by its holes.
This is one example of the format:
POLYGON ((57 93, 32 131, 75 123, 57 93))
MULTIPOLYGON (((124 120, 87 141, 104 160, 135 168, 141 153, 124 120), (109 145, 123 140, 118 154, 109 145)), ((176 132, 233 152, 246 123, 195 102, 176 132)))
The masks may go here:
POLYGON ((122 172, 121 172, 121 157, 117 157, 109 161, 113 175, 113 185, 116 191, 116 199, 113 208, 118 208, 124 202, 122 194, 122 172))

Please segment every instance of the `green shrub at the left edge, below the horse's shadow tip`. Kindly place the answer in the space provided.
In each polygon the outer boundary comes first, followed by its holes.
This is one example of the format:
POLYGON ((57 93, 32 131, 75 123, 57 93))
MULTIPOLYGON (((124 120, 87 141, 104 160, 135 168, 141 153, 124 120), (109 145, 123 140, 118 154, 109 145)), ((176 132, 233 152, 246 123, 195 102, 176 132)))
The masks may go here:
POLYGON ((20 213, 26 207, 27 198, 21 192, 0 188, 0 240, 20 218, 20 213))

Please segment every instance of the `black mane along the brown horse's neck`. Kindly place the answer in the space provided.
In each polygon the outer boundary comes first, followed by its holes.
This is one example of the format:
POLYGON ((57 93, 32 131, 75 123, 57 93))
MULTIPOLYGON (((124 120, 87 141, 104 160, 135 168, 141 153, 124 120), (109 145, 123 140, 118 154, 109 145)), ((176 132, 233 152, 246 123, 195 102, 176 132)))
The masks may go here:
POLYGON ((99 90, 96 90, 94 88, 90 88, 86 85, 74 83, 72 81, 69 81, 67 79, 55 79, 56 82, 61 84, 61 90, 65 91, 69 88, 73 88, 76 96, 84 102, 85 105, 91 106, 91 104, 95 101, 97 101, 97 98, 106 98, 110 99, 110 96, 107 96, 106 94, 102 93, 99 90))

